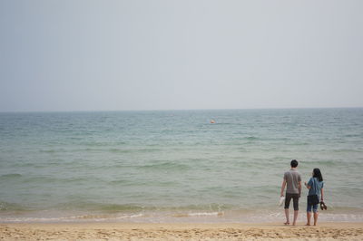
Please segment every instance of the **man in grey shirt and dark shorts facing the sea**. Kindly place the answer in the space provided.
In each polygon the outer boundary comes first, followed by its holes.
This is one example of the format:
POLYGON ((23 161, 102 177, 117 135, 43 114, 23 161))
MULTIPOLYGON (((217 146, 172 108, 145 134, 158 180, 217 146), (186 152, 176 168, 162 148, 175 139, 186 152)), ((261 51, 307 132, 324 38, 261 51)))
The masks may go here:
POLYGON ((285 225, 289 225, 289 202, 293 201, 294 206, 294 221, 292 225, 296 225, 296 219, 298 219, 299 214, 299 198, 301 195, 301 177, 297 170, 298 161, 296 159, 291 160, 290 166, 291 169, 284 174, 284 178, 281 186, 281 197, 284 196, 284 189, 286 188, 286 198, 285 198, 285 216, 286 223, 285 225))

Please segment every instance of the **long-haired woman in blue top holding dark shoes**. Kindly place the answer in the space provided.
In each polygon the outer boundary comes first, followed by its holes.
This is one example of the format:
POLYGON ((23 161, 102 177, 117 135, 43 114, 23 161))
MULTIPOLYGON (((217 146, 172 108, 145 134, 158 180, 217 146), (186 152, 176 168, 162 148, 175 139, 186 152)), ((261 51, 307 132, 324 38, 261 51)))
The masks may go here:
MULTIPOLYGON (((317 195, 318 201, 319 200, 320 200, 320 202, 323 201, 323 199, 324 199, 324 189, 323 189, 324 182, 323 182, 323 176, 321 175, 320 169, 313 169, 312 178, 309 179, 308 183, 305 182, 305 186, 309 189, 309 196, 317 195), (321 194, 321 196, 320 196, 320 194, 321 194)), ((306 224, 307 226, 310 225, 311 208, 314 212, 314 226, 317 225, 318 216, 319 216, 318 204, 319 203, 313 205, 313 204, 309 203, 309 201, 308 201, 308 204, 307 204, 308 223, 306 224)))

